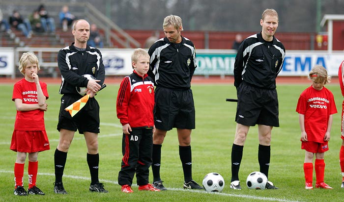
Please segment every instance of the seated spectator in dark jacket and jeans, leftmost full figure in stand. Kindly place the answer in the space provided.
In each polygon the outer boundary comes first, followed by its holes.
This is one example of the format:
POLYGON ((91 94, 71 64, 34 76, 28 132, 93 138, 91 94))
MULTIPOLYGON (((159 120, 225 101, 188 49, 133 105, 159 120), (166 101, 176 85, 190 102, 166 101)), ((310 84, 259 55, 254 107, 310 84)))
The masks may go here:
POLYGON ((21 30, 24 36, 31 38, 32 31, 30 21, 27 18, 23 19, 17 10, 13 10, 12 15, 9 17, 9 24, 16 29, 21 30))

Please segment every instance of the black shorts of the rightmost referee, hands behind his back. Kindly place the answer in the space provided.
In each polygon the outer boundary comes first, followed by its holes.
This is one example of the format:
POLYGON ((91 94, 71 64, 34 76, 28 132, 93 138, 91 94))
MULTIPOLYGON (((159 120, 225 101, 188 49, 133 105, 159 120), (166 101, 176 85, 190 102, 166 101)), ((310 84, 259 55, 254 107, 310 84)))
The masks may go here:
POLYGON ((242 82, 238 88, 235 121, 244 126, 280 126, 276 89, 262 89, 242 82))

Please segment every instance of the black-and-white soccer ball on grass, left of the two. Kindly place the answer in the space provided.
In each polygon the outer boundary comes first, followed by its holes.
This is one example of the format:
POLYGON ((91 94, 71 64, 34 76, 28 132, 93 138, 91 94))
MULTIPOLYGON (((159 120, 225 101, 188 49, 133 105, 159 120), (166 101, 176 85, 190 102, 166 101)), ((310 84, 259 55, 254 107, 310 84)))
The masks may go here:
POLYGON ((208 173, 203 178, 202 185, 207 192, 221 192, 225 187, 225 180, 218 173, 208 173))

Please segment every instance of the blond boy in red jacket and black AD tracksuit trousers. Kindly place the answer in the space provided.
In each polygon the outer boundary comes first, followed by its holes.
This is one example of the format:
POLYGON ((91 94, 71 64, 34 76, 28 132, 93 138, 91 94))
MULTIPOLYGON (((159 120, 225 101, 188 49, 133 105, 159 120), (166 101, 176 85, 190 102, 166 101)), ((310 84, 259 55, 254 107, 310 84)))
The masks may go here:
POLYGON ((139 191, 160 191, 148 183, 152 164, 154 83, 147 75, 149 55, 136 49, 131 55, 133 73, 125 76, 119 86, 116 111, 122 124, 122 163, 118 173, 121 191, 133 192, 131 185, 136 173, 139 191))

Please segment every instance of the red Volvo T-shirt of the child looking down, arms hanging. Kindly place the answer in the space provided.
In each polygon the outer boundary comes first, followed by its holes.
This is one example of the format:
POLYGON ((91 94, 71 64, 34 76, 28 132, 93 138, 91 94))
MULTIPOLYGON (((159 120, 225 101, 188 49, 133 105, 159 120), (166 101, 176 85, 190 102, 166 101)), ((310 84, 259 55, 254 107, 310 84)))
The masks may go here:
POLYGON ((308 141, 325 143, 329 116, 337 113, 332 92, 325 87, 319 91, 313 86, 306 88, 297 102, 296 112, 305 115, 308 141))

